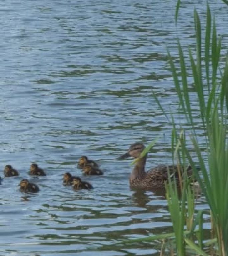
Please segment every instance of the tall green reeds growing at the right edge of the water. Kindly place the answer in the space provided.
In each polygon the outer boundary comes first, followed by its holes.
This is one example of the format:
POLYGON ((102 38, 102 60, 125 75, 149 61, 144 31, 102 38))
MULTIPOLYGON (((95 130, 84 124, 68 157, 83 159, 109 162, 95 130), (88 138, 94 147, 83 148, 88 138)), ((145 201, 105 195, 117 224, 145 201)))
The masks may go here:
MULTIPOLYGON (((223 2, 228 4, 227 0, 223 2)), ((179 8, 180 0, 176 7, 176 24, 179 8)), ((188 56, 184 56, 181 42, 178 40, 179 61, 174 63, 168 50, 168 61, 179 99, 179 110, 187 120, 190 129, 186 130, 183 127, 178 129, 172 113, 168 115, 154 95, 164 115, 172 120, 173 162, 184 168, 185 173, 181 177, 183 180, 180 188, 175 181, 172 181, 171 176, 166 185, 166 198, 174 232, 133 240, 139 242, 161 239, 163 240, 162 252, 165 246, 164 240, 173 240, 175 254, 179 256, 187 255, 186 248, 190 248, 197 255, 209 255, 205 247, 210 243, 214 244, 216 255, 228 256, 228 54, 221 54, 222 40, 217 36, 215 17, 212 18, 208 4, 206 14, 206 26, 202 29, 201 19, 197 10, 194 9, 196 37, 194 52, 189 47, 188 56), (193 83, 189 83, 189 74, 193 78, 193 83), (199 107, 197 116, 193 115, 194 110, 191 104, 192 88, 199 107), (206 152, 205 150, 202 152, 199 143, 199 118, 203 127, 206 152), (190 138, 190 143, 187 142, 186 137, 190 138), (192 150, 195 152, 194 159, 192 150), (194 189, 185 171, 188 164, 192 166, 194 177, 210 207, 213 237, 209 242, 205 242, 203 234, 203 212, 195 209, 194 189)), ((151 143, 153 144, 154 142, 151 143)), ((146 152, 148 150, 149 148, 146 152)), ((171 255, 173 255, 173 248, 171 255)))

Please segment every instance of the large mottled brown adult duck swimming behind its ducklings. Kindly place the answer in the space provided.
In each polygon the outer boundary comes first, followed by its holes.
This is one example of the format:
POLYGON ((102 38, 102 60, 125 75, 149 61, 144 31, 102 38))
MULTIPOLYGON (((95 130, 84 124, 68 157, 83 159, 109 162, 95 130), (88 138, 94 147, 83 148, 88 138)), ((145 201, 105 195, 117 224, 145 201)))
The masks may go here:
MULTIPOLYGON (((177 170, 178 168, 180 168, 181 172, 183 173, 183 167, 181 166, 158 165, 157 167, 152 168, 148 172, 145 172, 147 154, 144 157, 140 158, 140 154, 142 153, 144 148, 145 146, 142 143, 134 143, 130 146, 126 154, 119 157, 119 159, 125 159, 127 157, 138 158, 129 179, 131 187, 141 189, 164 188, 165 182, 168 181, 168 169, 170 172, 170 176, 176 179, 177 184, 180 183, 177 170)), ((192 174, 192 167, 188 166, 188 177, 191 177, 192 174)))

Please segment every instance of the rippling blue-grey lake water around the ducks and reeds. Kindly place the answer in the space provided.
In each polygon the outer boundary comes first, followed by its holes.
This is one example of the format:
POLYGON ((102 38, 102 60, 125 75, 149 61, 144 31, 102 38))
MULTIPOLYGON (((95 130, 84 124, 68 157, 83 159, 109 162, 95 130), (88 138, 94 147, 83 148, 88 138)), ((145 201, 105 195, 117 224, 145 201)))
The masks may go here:
MULTIPOLYGON (((159 135, 147 167, 172 161, 172 125, 152 91, 177 109, 166 47, 193 45, 192 2, 205 17, 205 1, 185 1, 177 32, 172 0, 1 1, 0 168, 20 177, 0 186, 0 256, 159 255, 158 242, 116 245, 172 230, 164 196, 131 190, 131 161, 117 157, 159 135), (81 155, 105 172, 84 178, 92 191, 62 185, 64 172, 81 175, 81 155), (31 179, 37 195, 17 186, 31 162, 47 172, 31 179)), ((227 7, 209 2, 227 46, 227 7)), ((208 209, 203 198, 197 207, 208 209)))

